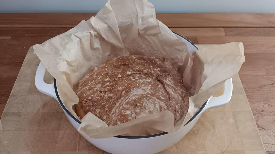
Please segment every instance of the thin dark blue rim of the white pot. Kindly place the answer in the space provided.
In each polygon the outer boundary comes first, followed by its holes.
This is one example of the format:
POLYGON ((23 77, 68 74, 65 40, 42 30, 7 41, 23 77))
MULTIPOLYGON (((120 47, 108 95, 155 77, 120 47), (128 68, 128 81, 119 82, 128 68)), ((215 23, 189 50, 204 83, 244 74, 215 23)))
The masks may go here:
MULTIPOLYGON (((175 33, 175 32, 173 32, 175 33)), ((188 42, 190 42, 193 46, 195 46, 195 44, 193 44, 190 40, 188 40, 187 38, 175 33, 176 35, 184 38, 185 40, 187 40, 188 42)), ((195 46, 195 48, 197 48, 197 46, 195 46)), ((199 48, 197 48, 199 49, 199 48)), ((66 107, 64 106, 64 104, 62 103, 59 95, 58 95, 58 91, 57 91, 57 86, 56 86, 56 80, 54 79, 54 90, 55 90, 55 94, 56 94, 56 97, 58 99, 58 102, 60 104, 60 106, 63 108, 63 110, 72 118, 74 119, 74 121, 76 121, 77 123, 81 124, 81 121, 79 121, 78 119, 76 119, 76 117, 74 117, 67 109, 66 107)), ((199 109, 199 111, 185 124, 187 125, 189 122, 191 122, 193 119, 195 119, 195 117, 197 117, 201 111, 203 110, 203 108, 205 107, 205 105, 207 104, 207 101, 201 106, 201 108, 199 109)), ((185 126, 184 125, 184 126, 185 126)), ((122 136, 122 135, 118 135, 118 136, 114 136, 114 137, 117 137, 117 138, 124 138, 124 139, 142 139, 142 138, 149 138, 149 137, 156 137, 156 136, 160 136, 160 135, 165 135, 165 134, 168 134, 168 132, 162 132, 162 133, 158 133, 158 134, 153 134, 153 135, 144 135, 144 136, 122 136)))

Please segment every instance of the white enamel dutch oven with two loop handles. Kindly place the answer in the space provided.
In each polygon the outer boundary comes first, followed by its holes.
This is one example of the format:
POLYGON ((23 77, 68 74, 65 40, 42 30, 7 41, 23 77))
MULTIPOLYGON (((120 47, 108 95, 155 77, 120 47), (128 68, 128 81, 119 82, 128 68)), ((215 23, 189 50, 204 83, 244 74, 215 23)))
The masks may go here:
MULTIPOLYGON (((198 48, 189 40, 182 37, 181 35, 175 33, 178 39, 184 41, 187 44, 188 51, 195 52, 198 50, 198 48)), ((52 84, 46 84, 43 81, 44 74, 45 74, 46 68, 42 63, 39 64, 36 76, 35 76, 35 85, 36 88, 46 94, 49 95, 60 103, 60 106, 62 107, 64 113, 66 114, 69 121, 72 123, 72 125, 75 127, 75 129, 78 129, 80 126, 81 121, 76 119, 72 114, 65 108, 64 104, 62 103, 61 99, 58 95, 58 88, 56 85, 56 80, 54 79, 54 83, 52 84)), ((212 108, 218 108, 221 106, 226 105, 232 95, 232 79, 226 80, 226 82, 223 85, 223 95, 219 97, 213 97, 211 96, 199 109, 199 111, 184 125, 181 129, 174 133, 158 133, 154 135, 145 135, 145 136, 115 136, 110 138, 104 138, 104 139, 93 139, 90 137, 87 137, 85 135, 82 135, 87 139, 90 143, 97 146, 98 148, 107 151, 109 153, 157 153, 160 151, 163 151, 167 149, 168 147, 174 145, 176 142, 178 142, 190 129, 195 125, 195 123, 198 121, 199 117, 203 112, 205 112, 208 109, 212 108)))

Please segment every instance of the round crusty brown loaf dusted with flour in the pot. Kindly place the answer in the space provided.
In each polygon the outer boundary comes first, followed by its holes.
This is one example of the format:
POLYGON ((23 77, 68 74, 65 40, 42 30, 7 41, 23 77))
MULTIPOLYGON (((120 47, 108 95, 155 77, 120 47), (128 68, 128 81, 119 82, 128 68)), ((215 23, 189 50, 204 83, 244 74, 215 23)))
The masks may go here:
POLYGON ((188 92, 182 76, 165 58, 120 56, 91 68, 79 81, 76 112, 88 112, 108 126, 168 110, 175 123, 185 117, 188 92))

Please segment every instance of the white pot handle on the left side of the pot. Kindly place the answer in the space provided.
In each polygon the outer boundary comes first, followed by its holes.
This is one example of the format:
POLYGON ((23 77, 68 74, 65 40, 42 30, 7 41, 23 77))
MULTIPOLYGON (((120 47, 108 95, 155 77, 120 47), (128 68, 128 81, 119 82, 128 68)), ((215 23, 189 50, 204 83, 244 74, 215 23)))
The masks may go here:
POLYGON ((38 91, 46 95, 49 95, 57 100, 55 90, 54 90, 54 83, 47 84, 43 80, 45 72, 46 72, 46 68, 42 64, 42 62, 40 62, 35 74, 35 86, 38 91))

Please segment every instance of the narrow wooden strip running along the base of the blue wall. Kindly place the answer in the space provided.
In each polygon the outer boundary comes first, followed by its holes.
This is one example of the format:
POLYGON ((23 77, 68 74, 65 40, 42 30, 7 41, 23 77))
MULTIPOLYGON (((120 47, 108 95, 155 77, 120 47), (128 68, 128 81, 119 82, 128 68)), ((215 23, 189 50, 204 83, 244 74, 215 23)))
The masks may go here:
MULTIPOLYGON (((0 27, 74 27, 96 13, 0 13, 0 27)), ((168 27, 275 27, 274 13, 156 13, 168 27)))

